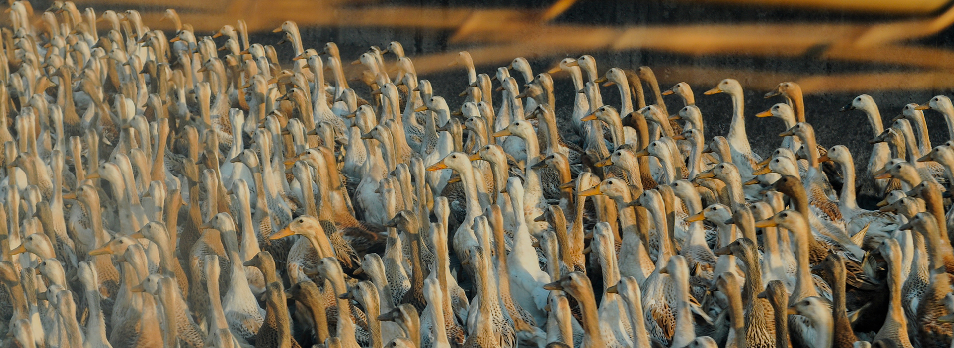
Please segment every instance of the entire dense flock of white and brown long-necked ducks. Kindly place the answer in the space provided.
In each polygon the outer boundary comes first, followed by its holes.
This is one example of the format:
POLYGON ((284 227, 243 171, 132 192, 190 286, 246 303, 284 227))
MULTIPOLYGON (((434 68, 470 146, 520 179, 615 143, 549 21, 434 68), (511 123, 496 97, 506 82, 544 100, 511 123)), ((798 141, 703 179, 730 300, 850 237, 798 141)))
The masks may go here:
POLYGON ((874 144, 856 172, 794 82, 757 113, 784 123, 757 121, 781 136, 763 159, 732 78, 704 92, 734 106, 707 137, 688 84, 590 55, 478 74, 462 51, 451 108, 398 42, 349 79, 290 21, 282 60, 243 21, 197 37, 167 10, 170 38, 135 10, 8 12, 4 346, 951 346, 954 142, 924 122, 954 139, 944 95, 887 129, 852 100, 874 144))

